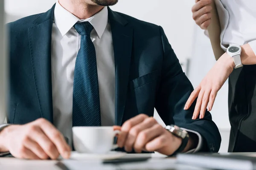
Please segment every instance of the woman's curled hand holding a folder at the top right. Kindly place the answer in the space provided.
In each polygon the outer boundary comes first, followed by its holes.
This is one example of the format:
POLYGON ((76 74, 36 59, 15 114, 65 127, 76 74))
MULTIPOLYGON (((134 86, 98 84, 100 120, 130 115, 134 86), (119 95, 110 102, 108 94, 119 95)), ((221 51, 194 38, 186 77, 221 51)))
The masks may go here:
POLYGON ((195 2, 192 7, 193 19, 202 29, 207 29, 211 23, 212 0, 195 0, 195 2))

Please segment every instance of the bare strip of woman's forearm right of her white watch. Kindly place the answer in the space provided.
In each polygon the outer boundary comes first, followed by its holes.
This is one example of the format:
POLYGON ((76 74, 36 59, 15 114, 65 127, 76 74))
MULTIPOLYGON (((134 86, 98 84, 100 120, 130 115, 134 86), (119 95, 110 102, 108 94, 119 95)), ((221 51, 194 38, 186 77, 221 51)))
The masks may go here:
POLYGON ((241 45, 241 62, 243 65, 256 64, 256 55, 249 44, 241 45))

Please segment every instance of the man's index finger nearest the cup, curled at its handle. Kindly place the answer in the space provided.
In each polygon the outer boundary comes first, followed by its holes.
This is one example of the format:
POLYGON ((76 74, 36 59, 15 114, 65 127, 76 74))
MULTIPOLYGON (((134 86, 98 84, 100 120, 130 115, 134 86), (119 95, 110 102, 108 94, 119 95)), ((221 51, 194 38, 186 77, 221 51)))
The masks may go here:
POLYGON ((135 125, 143 122, 146 118, 148 118, 145 114, 140 114, 138 116, 135 116, 128 121, 126 121, 121 128, 121 133, 118 135, 117 144, 119 147, 124 147, 125 140, 127 138, 129 130, 134 127, 135 125))

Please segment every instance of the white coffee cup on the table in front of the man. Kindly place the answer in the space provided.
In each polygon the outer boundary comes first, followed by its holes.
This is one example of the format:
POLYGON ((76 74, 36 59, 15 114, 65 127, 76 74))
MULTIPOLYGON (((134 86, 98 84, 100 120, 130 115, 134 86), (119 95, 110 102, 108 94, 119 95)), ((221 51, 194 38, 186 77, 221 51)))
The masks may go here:
POLYGON ((73 145, 79 153, 108 153, 117 148, 114 137, 120 133, 112 126, 73 127, 73 145))

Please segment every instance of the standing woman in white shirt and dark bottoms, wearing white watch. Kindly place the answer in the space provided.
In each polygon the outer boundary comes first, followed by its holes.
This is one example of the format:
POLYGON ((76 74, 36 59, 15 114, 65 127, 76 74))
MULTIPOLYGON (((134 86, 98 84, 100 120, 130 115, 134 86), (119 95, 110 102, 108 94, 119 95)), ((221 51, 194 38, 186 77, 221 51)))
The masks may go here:
POLYGON ((192 119, 203 118, 204 111, 207 108, 211 111, 217 92, 229 78, 228 151, 255 152, 256 1, 196 0, 192 12, 198 26, 208 30, 218 61, 195 88, 184 109, 198 97, 192 119))

